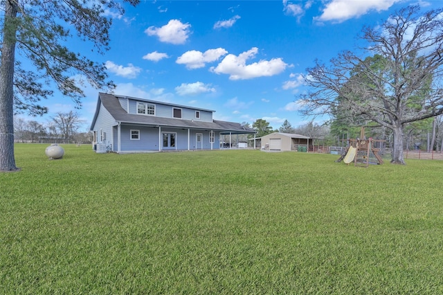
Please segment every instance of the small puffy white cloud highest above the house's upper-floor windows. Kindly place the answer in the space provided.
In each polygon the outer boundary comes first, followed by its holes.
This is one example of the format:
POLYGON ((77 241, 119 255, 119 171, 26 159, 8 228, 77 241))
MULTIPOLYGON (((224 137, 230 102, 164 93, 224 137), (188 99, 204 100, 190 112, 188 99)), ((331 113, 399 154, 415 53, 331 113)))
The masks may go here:
POLYGON ((149 36, 159 37, 161 42, 183 44, 190 35, 190 24, 182 24, 178 19, 171 19, 168 24, 160 28, 150 26, 145 30, 149 36))

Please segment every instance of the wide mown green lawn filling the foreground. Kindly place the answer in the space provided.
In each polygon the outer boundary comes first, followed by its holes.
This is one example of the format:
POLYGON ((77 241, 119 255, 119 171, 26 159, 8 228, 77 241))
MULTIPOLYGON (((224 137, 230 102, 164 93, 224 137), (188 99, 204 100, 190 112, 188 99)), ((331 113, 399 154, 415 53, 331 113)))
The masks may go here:
POLYGON ((442 162, 16 145, 0 294, 442 294, 442 162))

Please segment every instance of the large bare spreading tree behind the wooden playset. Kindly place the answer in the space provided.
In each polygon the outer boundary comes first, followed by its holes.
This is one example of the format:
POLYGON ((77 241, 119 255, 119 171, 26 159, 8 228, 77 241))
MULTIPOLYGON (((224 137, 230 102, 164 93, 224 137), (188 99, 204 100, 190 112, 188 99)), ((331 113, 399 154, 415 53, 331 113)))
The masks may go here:
POLYGON ((419 6, 409 6, 362 33, 362 55, 370 57, 345 51, 307 69, 302 112, 339 111, 341 118, 391 129, 391 163, 404 164, 404 127, 443 114, 443 9, 420 14, 419 6))

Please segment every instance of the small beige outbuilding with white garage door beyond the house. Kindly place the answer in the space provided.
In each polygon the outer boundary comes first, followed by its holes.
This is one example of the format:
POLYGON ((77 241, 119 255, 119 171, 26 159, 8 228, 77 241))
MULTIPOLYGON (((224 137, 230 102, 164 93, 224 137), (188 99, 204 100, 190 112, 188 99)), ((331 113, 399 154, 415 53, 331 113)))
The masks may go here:
POLYGON ((307 152, 309 147, 309 136, 300 134, 273 132, 256 140, 262 150, 307 152))

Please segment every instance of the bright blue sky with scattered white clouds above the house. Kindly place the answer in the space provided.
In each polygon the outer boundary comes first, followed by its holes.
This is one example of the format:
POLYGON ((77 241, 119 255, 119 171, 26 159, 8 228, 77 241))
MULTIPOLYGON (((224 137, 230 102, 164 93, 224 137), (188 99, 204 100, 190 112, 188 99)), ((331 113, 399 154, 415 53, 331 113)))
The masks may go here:
MULTIPOLYGON (((116 15, 111 50, 90 55, 91 44, 73 50, 104 62, 116 94, 215 110, 215 119, 252 124, 258 118, 278 129, 311 118, 298 113, 297 95, 306 69, 361 45, 363 26, 381 24, 395 10, 417 4, 422 11, 443 1, 141 1, 116 15)), ((98 90, 77 110, 87 131, 98 90)), ((61 94, 44 102, 49 114, 74 110, 61 94)), ((21 116, 24 117, 24 116, 21 116)))

